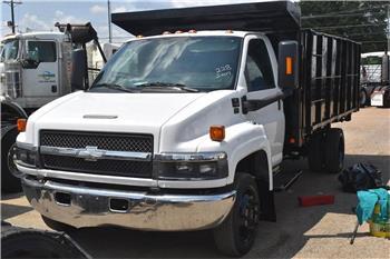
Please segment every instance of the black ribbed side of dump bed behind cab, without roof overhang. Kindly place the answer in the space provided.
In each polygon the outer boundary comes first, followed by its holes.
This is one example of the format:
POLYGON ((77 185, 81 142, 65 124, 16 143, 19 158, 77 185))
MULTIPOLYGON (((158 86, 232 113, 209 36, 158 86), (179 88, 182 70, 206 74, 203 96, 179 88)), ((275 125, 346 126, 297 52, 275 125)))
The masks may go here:
POLYGON ((299 88, 284 100, 286 145, 359 110, 360 43, 312 30, 299 33, 299 88))

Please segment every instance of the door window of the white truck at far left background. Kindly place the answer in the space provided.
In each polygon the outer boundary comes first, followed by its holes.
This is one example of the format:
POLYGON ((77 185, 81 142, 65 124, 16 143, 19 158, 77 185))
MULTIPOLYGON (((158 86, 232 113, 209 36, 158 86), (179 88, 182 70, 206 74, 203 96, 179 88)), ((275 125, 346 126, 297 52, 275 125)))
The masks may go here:
POLYGON ((57 51, 53 41, 28 41, 28 58, 36 62, 56 62, 57 51))

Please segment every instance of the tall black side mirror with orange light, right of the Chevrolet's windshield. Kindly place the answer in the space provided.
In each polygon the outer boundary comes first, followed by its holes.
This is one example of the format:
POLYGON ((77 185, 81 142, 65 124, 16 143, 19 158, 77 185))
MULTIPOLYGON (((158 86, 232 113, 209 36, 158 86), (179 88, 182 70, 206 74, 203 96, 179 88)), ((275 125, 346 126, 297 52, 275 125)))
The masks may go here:
POLYGON ((298 88, 298 42, 281 41, 279 43, 279 87, 283 91, 298 88))

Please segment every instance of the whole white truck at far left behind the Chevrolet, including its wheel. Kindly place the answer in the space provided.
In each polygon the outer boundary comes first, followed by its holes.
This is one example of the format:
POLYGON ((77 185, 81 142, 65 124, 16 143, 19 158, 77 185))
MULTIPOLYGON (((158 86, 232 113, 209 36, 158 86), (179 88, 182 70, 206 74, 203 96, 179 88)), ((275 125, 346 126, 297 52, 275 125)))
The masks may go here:
MULTIPOLYGON (((17 119, 27 118, 59 97, 89 87, 88 77, 80 78, 79 71, 72 71, 72 63, 76 60, 86 62, 87 42, 94 41, 92 46, 99 51, 100 60, 106 61, 98 43, 97 32, 90 23, 56 23, 56 27, 59 29, 58 32, 17 33, 6 36, 1 40, 1 188, 3 191, 21 190, 19 179, 10 175, 7 163, 8 150, 14 143, 18 133, 17 119), (77 78, 74 81, 72 74, 77 78)), ((81 67, 81 69, 88 69, 87 63, 81 67)), ((94 70, 96 72, 99 69, 94 70)))

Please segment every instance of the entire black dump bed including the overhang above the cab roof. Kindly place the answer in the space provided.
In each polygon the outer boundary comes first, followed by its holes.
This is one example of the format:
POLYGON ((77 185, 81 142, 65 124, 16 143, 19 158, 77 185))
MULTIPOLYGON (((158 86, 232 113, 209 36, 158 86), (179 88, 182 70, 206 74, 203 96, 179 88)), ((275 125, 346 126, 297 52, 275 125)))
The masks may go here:
POLYGON ((113 22, 133 34, 176 30, 241 30, 265 33, 274 47, 300 44, 299 88, 284 100, 286 150, 304 146, 312 133, 350 120, 359 109, 360 44, 301 30, 300 8, 291 1, 113 13, 113 22))

